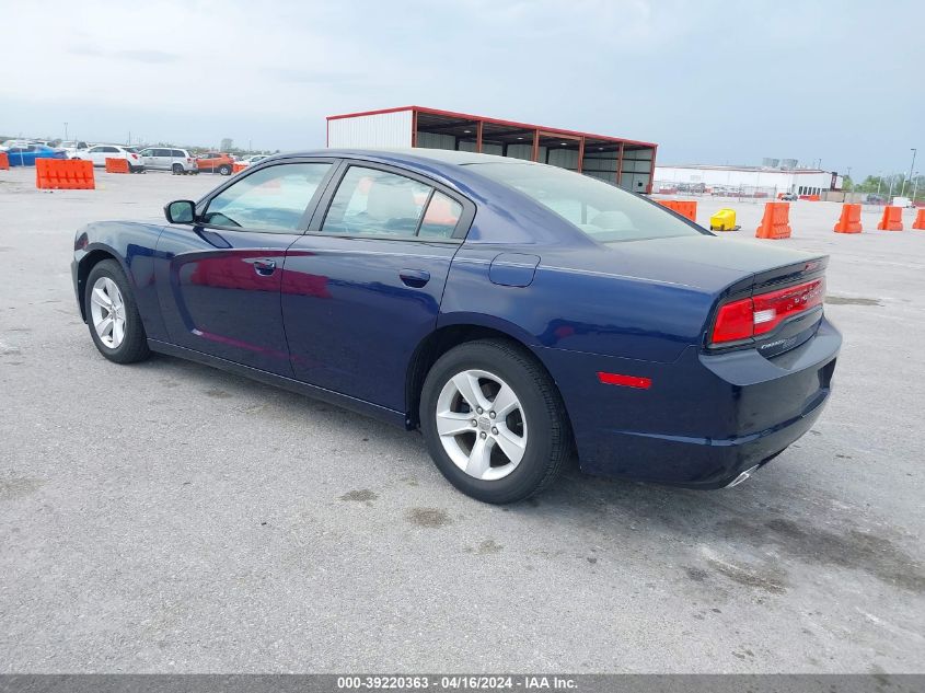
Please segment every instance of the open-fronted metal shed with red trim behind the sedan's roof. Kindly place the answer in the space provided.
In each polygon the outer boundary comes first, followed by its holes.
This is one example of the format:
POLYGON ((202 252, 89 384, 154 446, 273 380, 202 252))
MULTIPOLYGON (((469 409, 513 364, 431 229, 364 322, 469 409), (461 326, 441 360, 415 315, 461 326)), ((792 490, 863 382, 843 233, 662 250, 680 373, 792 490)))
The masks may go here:
POLYGON ((498 154, 577 171, 635 193, 652 192, 658 149, 652 142, 421 106, 328 116, 327 146, 498 154))

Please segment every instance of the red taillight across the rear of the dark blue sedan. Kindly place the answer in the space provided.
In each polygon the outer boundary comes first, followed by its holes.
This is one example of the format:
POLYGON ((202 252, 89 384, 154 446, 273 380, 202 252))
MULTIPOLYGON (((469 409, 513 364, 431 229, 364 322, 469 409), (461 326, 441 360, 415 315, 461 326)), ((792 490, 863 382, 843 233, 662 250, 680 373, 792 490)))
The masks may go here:
POLYGON ((822 303, 825 279, 730 301, 719 308, 710 344, 738 342, 773 331, 782 322, 822 303))

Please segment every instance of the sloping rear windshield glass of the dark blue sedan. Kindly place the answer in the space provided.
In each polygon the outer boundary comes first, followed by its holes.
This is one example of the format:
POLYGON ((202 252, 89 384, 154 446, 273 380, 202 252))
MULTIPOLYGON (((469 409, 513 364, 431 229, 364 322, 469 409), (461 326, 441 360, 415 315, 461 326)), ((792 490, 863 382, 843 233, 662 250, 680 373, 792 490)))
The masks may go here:
POLYGON ((533 198, 599 243, 699 233, 658 206, 579 173, 532 163, 469 165, 533 198))

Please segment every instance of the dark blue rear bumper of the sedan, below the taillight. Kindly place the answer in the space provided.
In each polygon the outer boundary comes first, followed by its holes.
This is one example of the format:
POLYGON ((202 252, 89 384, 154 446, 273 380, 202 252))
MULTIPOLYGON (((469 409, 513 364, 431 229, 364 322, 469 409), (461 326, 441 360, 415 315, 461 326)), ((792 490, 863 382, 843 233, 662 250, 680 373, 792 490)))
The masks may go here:
POLYGON ((581 463, 591 474, 697 488, 729 485, 806 434, 831 393, 841 334, 826 320, 775 359, 754 349, 673 363, 540 349, 563 392, 581 463), (556 354, 553 354, 556 353, 556 354), (598 371, 651 379, 603 385, 598 371))

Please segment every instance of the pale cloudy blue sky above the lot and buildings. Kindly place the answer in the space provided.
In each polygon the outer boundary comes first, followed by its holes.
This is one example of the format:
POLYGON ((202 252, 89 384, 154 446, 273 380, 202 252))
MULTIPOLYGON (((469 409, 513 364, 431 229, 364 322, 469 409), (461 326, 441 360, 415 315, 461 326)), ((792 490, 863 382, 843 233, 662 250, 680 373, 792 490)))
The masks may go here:
POLYGON ((925 173, 921 0, 0 0, 0 135, 286 151, 323 147, 327 115, 415 104, 654 141, 662 164, 858 180, 917 148, 925 173))

